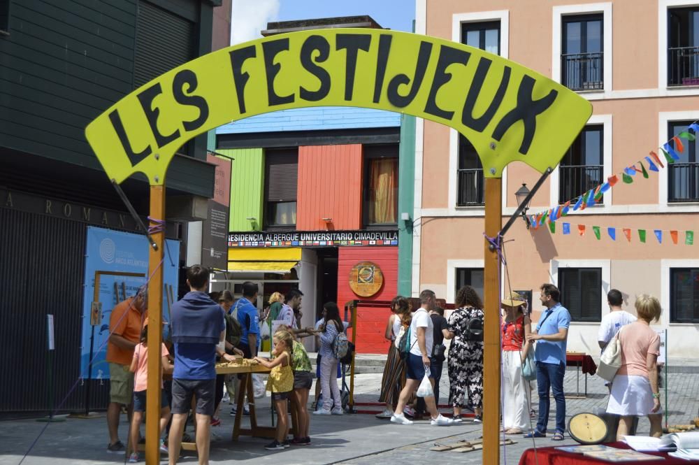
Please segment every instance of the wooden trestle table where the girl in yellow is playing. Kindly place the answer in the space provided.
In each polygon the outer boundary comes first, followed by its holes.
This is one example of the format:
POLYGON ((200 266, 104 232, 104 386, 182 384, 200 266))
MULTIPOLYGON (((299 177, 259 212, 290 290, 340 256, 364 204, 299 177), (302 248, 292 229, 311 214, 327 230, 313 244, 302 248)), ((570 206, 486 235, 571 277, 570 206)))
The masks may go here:
MULTIPOLYGON (((252 388, 252 374, 253 373, 269 373, 271 369, 265 368, 264 366, 257 365, 232 365, 228 366, 225 364, 216 364, 216 374, 217 375, 243 375, 240 380, 241 389, 247 391, 248 406, 250 407, 250 428, 241 428, 240 424, 243 422, 243 405, 245 403, 245 396, 240 396, 238 398, 238 406, 236 412, 236 420, 233 423, 233 434, 231 435, 232 441, 238 441, 238 436, 252 436, 255 438, 275 438, 277 429, 275 427, 263 427, 257 424, 257 412, 255 410, 255 396, 254 389, 252 388)), ((236 393, 237 394, 237 393, 236 393)), ((192 408, 194 408, 194 399, 192 400, 192 408)), ((292 434, 296 434, 297 418, 295 410, 291 409, 291 431, 292 434)), ((184 450, 196 450, 196 443, 182 443, 182 449, 184 450)))

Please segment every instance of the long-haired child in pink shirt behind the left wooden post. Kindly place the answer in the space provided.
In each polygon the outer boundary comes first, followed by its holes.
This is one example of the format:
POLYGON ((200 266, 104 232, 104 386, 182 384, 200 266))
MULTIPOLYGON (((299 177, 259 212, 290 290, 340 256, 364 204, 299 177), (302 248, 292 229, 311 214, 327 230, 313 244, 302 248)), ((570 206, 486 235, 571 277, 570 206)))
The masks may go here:
MULTIPOLYGON (((161 345, 161 353, 163 371, 167 373, 173 372, 173 365, 168 359, 168 349, 165 344, 161 345)), ((134 348, 134 358, 131 359, 131 368, 134 375, 134 413, 131 416, 131 430, 129 431, 129 450, 131 454, 129 455, 129 463, 138 462, 138 436, 140 424, 143 422, 143 417, 145 413, 145 388, 147 386, 148 379, 148 327, 144 327, 140 331, 140 343, 134 348)), ((162 380, 160 382, 160 387, 162 388, 162 380)), ((161 390, 161 400, 160 400, 160 433, 164 431, 168 422, 170 421, 170 403, 168 401, 167 393, 164 389, 161 390)), ((161 452, 167 453, 168 448, 160 441, 161 452)))

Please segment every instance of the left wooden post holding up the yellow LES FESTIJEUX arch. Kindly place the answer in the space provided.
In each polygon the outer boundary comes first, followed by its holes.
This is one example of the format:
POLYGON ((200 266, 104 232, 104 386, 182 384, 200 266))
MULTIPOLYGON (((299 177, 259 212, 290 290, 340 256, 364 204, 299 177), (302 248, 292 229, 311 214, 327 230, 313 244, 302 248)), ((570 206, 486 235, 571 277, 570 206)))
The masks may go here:
MULTIPOLYGON (((150 186, 150 217, 165 219, 165 186, 150 186)), ((148 380, 145 394, 145 463, 160 464, 160 390, 163 343, 163 250, 165 230, 154 232, 148 257, 148 380)))

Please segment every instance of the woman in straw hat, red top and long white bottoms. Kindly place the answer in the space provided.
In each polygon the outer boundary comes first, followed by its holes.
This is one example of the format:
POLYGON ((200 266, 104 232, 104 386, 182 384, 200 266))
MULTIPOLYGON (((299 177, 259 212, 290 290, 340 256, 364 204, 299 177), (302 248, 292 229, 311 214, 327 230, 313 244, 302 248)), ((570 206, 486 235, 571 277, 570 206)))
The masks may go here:
POLYGON ((502 301, 503 310, 503 431, 522 434, 529 429, 529 402, 531 396, 522 376, 522 365, 531 343, 531 320, 526 315, 526 302, 517 292, 502 301))

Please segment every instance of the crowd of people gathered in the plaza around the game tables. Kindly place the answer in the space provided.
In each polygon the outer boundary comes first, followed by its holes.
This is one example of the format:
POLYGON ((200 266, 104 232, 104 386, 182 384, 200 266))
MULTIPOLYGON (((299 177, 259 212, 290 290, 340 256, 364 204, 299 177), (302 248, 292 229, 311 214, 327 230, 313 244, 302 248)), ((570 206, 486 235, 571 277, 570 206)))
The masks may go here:
MULTIPOLYGON (((229 291, 207 294, 209 271, 194 265, 187 270, 189 292, 173 304, 170 340, 160 348, 164 385, 161 399, 162 452, 174 465, 180 455, 185 424, 196 398, 193 419, 200 464, 208 463, 210 428, 220 424, 218 412, 224 392, 229 398, 245 395, 237 376, 217 375, 217 360, 233 361, 236 357, 254 359, 271 369, 266 389, 271 391, 273 408, 278 417, 274 441, 268 450, 283 450, 291 445, 310 444, 308 400, 312 364, 305 347, 298 340, 317 337, 317 389, 314 415, 343 415, 338 347, 348 323, 340 318, 336 303, 323 306, 322 318, 315 327, 301 326, 303 293, 291 289, 284 296, 275 293, 270 307, 258 313, 257 285, 245 282, 242 296, 234 302, 229 291), (270 357, 259 357, 261 329, 268 327, 272 349, 270 357), (294 437, 289 439, 287 412, 298 419, 294 437)), ((632 432, 633 417, 648 415, 651 435, 661 434, 658 393, 657 357, 660 340, 649 324, 658 320, 661 307, 652 296, 641 295, 635 301, 637 317, 621 309, 622 294, 612 289, 607 294, 610 305, 600 325, 599 345, 604 350, 615 340, 620 347, 621 368, 610 382, 607 412, 620 416, 619 437, 632 432), (621 330, 628 326, 628 329, 621 330)), ((501 301, 500 328, 503 375, 502 431, 547 436, 550 399, 556 403, 556 421, 552 440, 562 441, 565 431, 565 396, 563 378, 570 313, 561 305, 559 289, 551 284, 540 287, 543 310, 533 327, 531 309, 517 292, 501 301), (531 392, 538 392, 538 415, 535 427, 531 392)), ((412 424, 429 415, 431 424, 448 426, 463 421, 463 410, 473 411, 473 420, 483 414, 483 322, 484 306, 475 289, 464 286, 456 294, 456 309, 445 317, 435 293, 424 290, 419 307, 410 299, 396 296, 391 302, 391 316, 385 337, 391 341, 384 366, 379 401, 384 411, 377 415, 395 424, 412 424), (448 350, 447 343, 448 342, 448 350), (447 365, 451 415, 442 415, 440 379, 447 365), (426 380, 429 381, 425 385, 426 380), (416 395, 417 393, 417 395, 416 395)), ((147 287, 117 304, 110 316, 107 361, 110 366, 110 404, 107 412, 110 442, 108 452, 124 453, 129 462, 138 462, 139 427, 145 410, 147 379, 147 287), (131 430, 124 445, 118 436, 120 409, 128 406, 131 430)), ((344 353, 344 352, 343 352, 344 353)), ((243 403, 243 402, 240 402, 243 403)), ((236 402, 236 405, 240 405, 236 402)), ((243 403, 243 405, 246 405, 243 403)), ((236 415, 234 406, 231 415, 236 415)), ((187 438, 189 441, 191 439, 187 438)))

